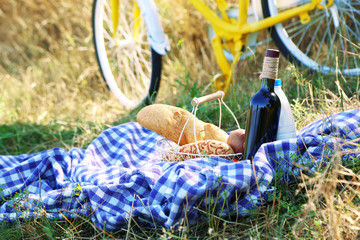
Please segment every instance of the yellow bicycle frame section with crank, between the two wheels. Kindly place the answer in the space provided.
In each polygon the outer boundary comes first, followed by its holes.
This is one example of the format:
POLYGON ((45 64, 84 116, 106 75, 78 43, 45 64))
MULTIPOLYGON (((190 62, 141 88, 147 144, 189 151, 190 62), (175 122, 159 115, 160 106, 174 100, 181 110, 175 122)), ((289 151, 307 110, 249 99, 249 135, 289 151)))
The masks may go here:
POLYGON ((239 60, 241 50, 246 46, 249 34, 267 29, 297 16, 300 17, 303 24, 306 24, 310 21, 310 16, 308 14, 309 11, 315 8, 329 7, 333 4, 333 0, 328 1, 326 6, 321 5, 322 0, 312 0, 310 3, 290 8, 277 14, 276 16, 248 23, 249 1, 250 0, 239 0, 239 19, 237 22, 233 23, 227 18, 226 10, 228 10, 229 7, 227 6, 225 0, 217 0, 217 4, 221 11, 221 17, 211 10, 203 1, 190 0, 192 5, 210 22, 217 35, 212 40, 212 46, 216 60, 223 74, 214 78, 213 85, 214 88, 222 90, 225 93, 227 92, 231 82, 233 66, 239 60), (223 45, 222 39, 224 39, 225 42, 228 42, 226 46, 223 45), (232 66, 230 66, 224 55, 224 47, 227 47, 235 56, 232 66))

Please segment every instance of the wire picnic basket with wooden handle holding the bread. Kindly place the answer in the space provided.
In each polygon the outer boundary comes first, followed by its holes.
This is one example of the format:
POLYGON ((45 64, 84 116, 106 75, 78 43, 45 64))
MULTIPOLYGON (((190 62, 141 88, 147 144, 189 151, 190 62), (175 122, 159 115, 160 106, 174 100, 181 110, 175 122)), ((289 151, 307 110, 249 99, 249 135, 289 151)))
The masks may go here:
MULTIPOLYGON (((191 101, 191 105, 193 106, 193 110, 191 112, 191 116, 196 116, 196 111, 197 108, 200 104, 204 103, 204 102, 209 102, 215 99, 219 100, 220 103, 220 122, 219 122, 219 127, 221 126, 221 104, 223 104, 232 114, 233 118, 235 119, 235 122, 239 127, 239 123, 237 122, 234 114, 232 113, 232 111, 229 109, 229 107, 224 103, 223 101, 223 97, 224 97, 224 92, 222 91, 218 91, 217 93, 213 93, 207 96, 203 96, 201 98, 194 98, 191 101)), ((191 116, 189 117, 188 121, 190 120, 191 116)), ((184 125, 184 128, 186 127, 187 122, 184 125)), ((195 126, 195 124, 194 124, 195 126)), ((195 135, 195 129, 194 129, 194 135, 195 135)), ((179 139, 181 139, 182 137, 182 133, 180 134, 179 139)), ((196 142, 196 141, 195 141, 196 142)), ((242 159, 242 153, 236 153, 236 154, 227 154, 227 155, 209 155, 209 154, 205 154, 205 153, 201 153, 200 151, 198 152, 198 154, 194 154, 194 153, 184 153, 184 152, 179 152, 179 145, 174 143, 171 140, 168 140, 166 138, 161 139, 159 141, 156 142, 156 150, 158 152, 158 154, 160 155, 161 159, 163 161, 169 161, 169 162, 182 162, 182 161, 186 161, 189 159, 194 159, 194 158, 206 158, 206 157, 220 157, 220 158, 224 158, 230 161, 240 161, 242 159)))

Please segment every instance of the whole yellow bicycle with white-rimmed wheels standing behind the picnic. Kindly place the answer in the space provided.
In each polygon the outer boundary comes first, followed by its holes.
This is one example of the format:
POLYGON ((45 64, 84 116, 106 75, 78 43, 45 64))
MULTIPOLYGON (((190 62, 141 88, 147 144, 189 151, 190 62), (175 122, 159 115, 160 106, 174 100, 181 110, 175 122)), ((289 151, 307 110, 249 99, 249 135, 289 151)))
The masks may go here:
MULTIPOLYGON (((360 0, 189 0, 210 23, 213 52, 222 74, 214 87, 226 92, 233 64, 257 46, 257 32, 291 62, 323 74, 360 75, 360 0)), ((125 106, 155 98, 161 56, 170 50, 153 0, 94 0, 93 31, 101 74, 125 106)))

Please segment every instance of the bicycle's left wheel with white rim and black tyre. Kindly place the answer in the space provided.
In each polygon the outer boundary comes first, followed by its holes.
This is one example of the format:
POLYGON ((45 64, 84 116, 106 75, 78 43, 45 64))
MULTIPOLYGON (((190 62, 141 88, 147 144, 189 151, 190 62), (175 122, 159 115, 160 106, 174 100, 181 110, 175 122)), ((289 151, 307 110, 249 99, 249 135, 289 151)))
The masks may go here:
POLYGON ((119 23, 113 34, 110 1, 95 0, 92 12, 101 75, 124 106, 150 104, 160 86, 161 55, 151 49, 144 21, 134 33, 134 0, 119 0, 119 23))

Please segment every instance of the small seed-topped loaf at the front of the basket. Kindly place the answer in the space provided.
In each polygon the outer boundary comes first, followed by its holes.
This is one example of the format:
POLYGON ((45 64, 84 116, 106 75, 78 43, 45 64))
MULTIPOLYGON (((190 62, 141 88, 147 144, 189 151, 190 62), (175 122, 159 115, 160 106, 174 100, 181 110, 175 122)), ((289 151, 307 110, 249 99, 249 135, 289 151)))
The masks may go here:
POLYGON ((219 155, 220 157, 225 157, 225 155, 235 154, 234 150, 227 143, 217 140, 203 140, 185 144, 178 149, 172 148, 163 155, 163 159, 171 162, 181 162, 200 157, 199 152, 200 156, 219 155))

